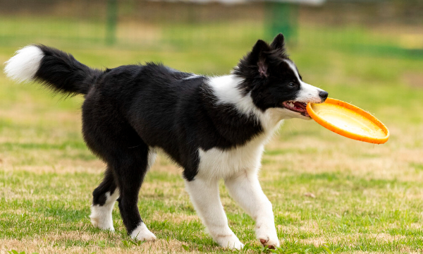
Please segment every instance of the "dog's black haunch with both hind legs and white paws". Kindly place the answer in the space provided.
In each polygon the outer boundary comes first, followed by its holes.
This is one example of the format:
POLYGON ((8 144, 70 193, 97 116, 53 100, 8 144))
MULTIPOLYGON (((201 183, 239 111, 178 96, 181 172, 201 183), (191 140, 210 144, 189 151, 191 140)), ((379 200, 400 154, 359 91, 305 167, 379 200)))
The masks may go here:
POLYGON ((137 206, 142 181, 154 162, 154 151, 116 112, 116 107, 102 98, 87 96, 82 120, 85 142, 107 164, 104 181, 93 193, 94 226, 113 229, 111 210, 117 198, 128 234, 141 241, 154 240, 156 236, 142 222, 137 206))

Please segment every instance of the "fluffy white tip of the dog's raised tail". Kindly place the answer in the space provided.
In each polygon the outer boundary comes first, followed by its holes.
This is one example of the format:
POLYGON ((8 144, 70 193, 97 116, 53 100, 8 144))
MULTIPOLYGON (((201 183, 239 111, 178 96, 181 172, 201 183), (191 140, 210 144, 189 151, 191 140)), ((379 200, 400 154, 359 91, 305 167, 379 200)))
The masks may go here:
POLYGON ((15 56, 6 61, 4 72, 8 78, 18 82, 32 80, 39 69, 44 53, 36 46, 19 49, 15 56))

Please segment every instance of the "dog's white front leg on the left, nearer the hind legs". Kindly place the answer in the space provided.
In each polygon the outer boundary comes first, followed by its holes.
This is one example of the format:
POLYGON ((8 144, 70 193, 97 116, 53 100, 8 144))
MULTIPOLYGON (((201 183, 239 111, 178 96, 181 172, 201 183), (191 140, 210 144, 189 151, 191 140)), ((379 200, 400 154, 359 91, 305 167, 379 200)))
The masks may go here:
POLYGON ((243 243, 229 229, 228 219, 219 197, 219 181, 196 178, 192 181, 185 180, 185 184, 195 210, 214 241, 222 247, 243 248, 243 243))

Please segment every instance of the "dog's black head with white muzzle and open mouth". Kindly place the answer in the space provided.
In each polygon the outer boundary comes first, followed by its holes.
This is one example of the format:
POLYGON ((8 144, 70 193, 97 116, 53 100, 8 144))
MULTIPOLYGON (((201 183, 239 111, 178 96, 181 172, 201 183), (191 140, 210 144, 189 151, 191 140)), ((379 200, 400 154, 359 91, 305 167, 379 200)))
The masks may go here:
POLYGON ((302 81, 286 54, 282 34, 269 45, 258 40, 233 72, 243 79, 240 89, 262 111, 280 109, 283 118, 309 119, 307 102, 324 102, 328 93, 302 81))

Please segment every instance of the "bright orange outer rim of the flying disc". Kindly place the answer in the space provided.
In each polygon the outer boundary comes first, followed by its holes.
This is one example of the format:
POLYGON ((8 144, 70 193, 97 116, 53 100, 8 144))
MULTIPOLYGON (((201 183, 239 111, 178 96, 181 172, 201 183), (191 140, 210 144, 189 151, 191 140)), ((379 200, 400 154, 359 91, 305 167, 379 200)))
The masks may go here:
POLYGON ((312 103, 307 103, 307 113, 309 114, 309 116, 316 121, 317 123, 319 123, 321 126, 323 126, 324 128, 327 128, 329 131, 333 131, 334 133, 338 133, 339 135, 343 135, 346 138, 351 138, 353 140, 359 140, 359 141, 364 141, 367 143, 374 143, 374 144, 383 144, 386 143, 386 141, 388 141, 389 138, 389 130, 388 128, 386 128, 386 126, 384 125, 384 123, 382 123, 381 121, 379 121, 379 119, 376 119, 376 117, 374 117, 372 114, 370 114, 367 111, 364 111, 363 109, 360 109, 357 106, 354 106, 353 104, 350 104, 348 102, 343 102, 339 99, 333 99, 333 98, 327 98, 326 101, 324 103, 327 104, 334 104, 334 105, 338 105, 341 106, 345 109, 350 109, 351 111, 354 111, 357 114, 360 114, 361 116, 363 116, 364 118, 368 119, 369 121, 371 121, 372 123, 376 124, 376 126, 378 126, 379 128, 381 128, 382 131, 384 131, 384 133, 386 134, 384 138, 376 138, 376 137, 370 137, 368 135, 360 135, 357 133, 353 133, 351 131, 347 131, 343 128, 339 128, 338 126, 333 125, 332 123, 330 123, 329 121, 326 121, 324 119, 322 119, 312 108, 312 103))

